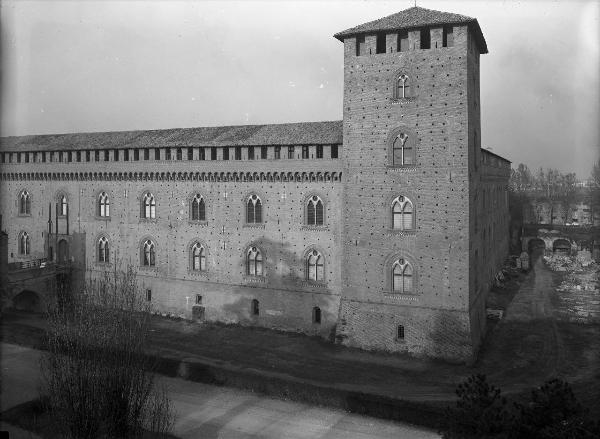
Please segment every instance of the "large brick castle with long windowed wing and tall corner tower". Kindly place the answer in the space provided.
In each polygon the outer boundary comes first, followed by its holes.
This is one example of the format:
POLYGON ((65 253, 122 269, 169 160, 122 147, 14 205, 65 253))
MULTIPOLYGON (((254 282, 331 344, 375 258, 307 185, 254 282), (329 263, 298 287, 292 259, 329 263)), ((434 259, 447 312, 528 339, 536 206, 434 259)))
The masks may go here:
POLYGON ((335 38, 341 121, 2 138, 8 262, 133 265, 162 313, 472 358, 510 174, 480 146, 479 24, 413 7, 335 38))

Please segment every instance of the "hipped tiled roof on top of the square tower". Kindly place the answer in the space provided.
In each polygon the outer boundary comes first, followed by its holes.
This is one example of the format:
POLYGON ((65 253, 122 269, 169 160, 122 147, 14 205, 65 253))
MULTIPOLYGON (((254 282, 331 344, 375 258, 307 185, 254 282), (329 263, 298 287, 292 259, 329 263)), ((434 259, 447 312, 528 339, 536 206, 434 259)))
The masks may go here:
POLYGON ((344 38, 365 34, 375 33, 382 31, 392 31, 400 29, 414 29, 425 26, 435 26, 443 24, 465 24, 468 25, 477 39, 477 44, 481 53, 487 53, 487 44, 477 19, 467 17, 460 14, 452 14, 450 12, 434 11, 432 9, 425 9, 419 6, 405 9, 387 17, 380 18, 378 20, 369 21, 358 26, 355 26, 345 31, 338 32, 334 35, 340 41, 344 41, 344 38))

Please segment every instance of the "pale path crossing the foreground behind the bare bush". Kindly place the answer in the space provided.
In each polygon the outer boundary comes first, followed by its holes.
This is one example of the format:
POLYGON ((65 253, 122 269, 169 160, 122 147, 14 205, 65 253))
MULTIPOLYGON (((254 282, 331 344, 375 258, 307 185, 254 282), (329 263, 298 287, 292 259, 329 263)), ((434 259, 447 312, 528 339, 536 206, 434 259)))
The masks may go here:
MULTIPOLYGON (((38 395, 40 352, 2 343, 2 410, 38 395)), ((181 438, 438 438, 423 428, 176 378, 160 378, 181 438)))

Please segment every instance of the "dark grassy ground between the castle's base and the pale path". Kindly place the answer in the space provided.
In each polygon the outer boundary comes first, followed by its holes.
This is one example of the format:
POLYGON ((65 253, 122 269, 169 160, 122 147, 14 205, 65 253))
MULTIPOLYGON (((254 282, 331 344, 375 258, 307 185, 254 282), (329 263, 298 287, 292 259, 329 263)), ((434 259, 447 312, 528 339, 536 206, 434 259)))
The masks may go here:
MULTIPOLYGON (((561 274, 552 273, 553 284, 561 274)), ((531 274, 493 291, 490 307, 506 309, 531 274)), ((473 365, 367 352, 303 334, 241 325, 152 317, 149 345, 168 376, 238 387, 271 396, 329 405, 372 416, 437 427, 456 385, 475 373, 504 393, 519 395, 560 377, 600 417, 600 325, 554 318, 489 321, 473 365), (182 371, 181 360, 187 368, 182 371)), ((6 314, 4 341, 43 347, 40 315, 6 314)))

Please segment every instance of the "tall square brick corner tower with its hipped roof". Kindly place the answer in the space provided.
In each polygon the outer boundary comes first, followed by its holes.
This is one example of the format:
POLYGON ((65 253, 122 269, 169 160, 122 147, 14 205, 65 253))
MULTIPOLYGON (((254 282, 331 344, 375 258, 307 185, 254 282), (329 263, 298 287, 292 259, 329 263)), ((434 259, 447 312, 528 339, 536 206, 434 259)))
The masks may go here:
POLYGON ((485 330, 473 245, 487 53, 479 24, 413 7, 335 37, 346 177, 338 336, 467 360, 485 330))

